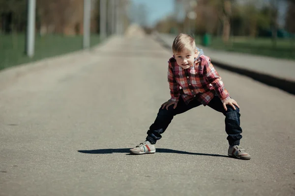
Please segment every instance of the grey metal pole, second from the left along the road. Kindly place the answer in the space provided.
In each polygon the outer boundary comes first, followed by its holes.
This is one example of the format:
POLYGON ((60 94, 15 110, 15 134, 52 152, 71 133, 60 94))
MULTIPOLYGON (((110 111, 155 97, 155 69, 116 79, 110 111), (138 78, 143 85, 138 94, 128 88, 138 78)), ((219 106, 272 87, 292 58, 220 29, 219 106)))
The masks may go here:
POLYGON ((84 0, 83 48, 90 47, 91 0, 84 0))

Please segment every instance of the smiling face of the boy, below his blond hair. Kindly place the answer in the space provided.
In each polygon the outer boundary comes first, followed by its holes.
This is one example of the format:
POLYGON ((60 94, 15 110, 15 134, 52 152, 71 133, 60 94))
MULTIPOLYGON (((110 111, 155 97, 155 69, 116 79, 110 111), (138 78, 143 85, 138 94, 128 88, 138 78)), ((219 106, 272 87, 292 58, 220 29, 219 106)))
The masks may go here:
POLYGON ((194 65, 195 57, 197 56, 197 49, 195 50, 184 50, 181 52, 174 53, 177 64, 183 69, 188 69, 194 65))

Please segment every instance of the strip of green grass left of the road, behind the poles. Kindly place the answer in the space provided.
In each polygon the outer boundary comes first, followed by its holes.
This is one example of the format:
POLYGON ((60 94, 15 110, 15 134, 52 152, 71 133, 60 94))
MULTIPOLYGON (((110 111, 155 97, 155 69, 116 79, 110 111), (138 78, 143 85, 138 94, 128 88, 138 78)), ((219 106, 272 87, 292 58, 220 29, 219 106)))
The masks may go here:
MULTIPOLYGON (((82 49, 83 36, 50 34, 36 35, 35 54, 29 58, 25 53, 25 34, 0 34, 0 70, 82 49)), ((90 37, 90 46, 100 42, 99 35, 90 37)))

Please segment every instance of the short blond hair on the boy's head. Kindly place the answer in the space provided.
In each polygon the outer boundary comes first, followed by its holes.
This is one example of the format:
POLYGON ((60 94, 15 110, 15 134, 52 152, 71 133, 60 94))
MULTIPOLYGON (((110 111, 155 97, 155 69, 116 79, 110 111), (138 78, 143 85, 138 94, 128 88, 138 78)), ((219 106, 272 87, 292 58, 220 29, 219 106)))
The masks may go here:
POLYGON ((177 53, 177 52, 182 52, 186 49, 189 51, 195 51, 196 49, 195 39, 190 35, 180 33, 177 35, 177 37, 173 41, 172 51, 174 53, 177 53))

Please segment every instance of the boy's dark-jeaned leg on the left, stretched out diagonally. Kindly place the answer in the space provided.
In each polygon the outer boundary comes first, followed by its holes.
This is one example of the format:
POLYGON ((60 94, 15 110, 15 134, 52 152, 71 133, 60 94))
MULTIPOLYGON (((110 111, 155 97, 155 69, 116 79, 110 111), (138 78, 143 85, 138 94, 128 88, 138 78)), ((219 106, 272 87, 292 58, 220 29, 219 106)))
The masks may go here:
POLYGON ((180 96, 177 107, 175 109, 173 108, 174 105, 169 106, 168 110, 166 108, 162 109, 162 107, 160 107, 156 120, 149 127, 146 140, 151 144, 155 144, 157 140, 162 138, 161 134, 164 133, 164 131, 167 129, 168 125, 171 123, 175 115, 186 112, 199 105, 201 105, 201 102, 196 99, 191 100, 189 104, 185 104, 180 96))

